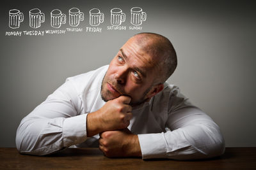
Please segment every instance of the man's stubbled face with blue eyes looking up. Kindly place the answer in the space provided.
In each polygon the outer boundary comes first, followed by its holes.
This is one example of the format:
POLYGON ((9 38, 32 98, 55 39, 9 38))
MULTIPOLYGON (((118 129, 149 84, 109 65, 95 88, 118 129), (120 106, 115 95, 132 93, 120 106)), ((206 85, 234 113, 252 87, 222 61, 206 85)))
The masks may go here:
POLYGON ((101 96, 104 101, 126 95, 130 104, 140 104, 150 97, 156 68, 148 55, 134 38, 129 39, 110 62, 102 81, 101 96))

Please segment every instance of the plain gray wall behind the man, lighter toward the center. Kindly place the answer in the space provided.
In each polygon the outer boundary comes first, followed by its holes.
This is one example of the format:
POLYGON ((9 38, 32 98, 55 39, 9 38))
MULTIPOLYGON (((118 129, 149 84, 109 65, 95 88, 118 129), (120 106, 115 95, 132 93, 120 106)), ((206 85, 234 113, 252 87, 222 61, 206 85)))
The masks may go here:
MULTIPOLYGON (((168 80, 178 85, 193 104, 210 115, 227 146, 256 146, 255 30, 253 1, 4 1, 0 28, 0 146, 15 147, 20 120, 58 88, 68 76, 108 64, 125 41, 141 31, 108 31, 111 8, 122 8, 131 26, 129 10, 147 13, 142 32, 169 38, 178 55, 178 67, 168 80), (36 30, 53 29, 50 12, 68 13, 77 7, 85 14, 83 32, 45 36, 5 36, 8 11, 24 13, 17 31, 32 31, 28 11, 40 8, 45 22, 36 30), (85 32, 89 11, 105 14, 101 33, 85 32)), ((68 20, 67 20, 68 21, 68 20)), ((60 29, 70 27, 62 25, 60 29)), ((15 30, 16 31, 16 30, 15 30)))

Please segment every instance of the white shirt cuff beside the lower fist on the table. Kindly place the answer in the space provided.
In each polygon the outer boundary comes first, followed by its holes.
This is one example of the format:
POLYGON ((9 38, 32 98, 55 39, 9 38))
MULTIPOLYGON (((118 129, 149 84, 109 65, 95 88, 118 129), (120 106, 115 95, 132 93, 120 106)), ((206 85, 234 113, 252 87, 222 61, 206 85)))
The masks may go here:
POLYGON ((142 159, 166 158, 164 133, 138 134, 142 159))

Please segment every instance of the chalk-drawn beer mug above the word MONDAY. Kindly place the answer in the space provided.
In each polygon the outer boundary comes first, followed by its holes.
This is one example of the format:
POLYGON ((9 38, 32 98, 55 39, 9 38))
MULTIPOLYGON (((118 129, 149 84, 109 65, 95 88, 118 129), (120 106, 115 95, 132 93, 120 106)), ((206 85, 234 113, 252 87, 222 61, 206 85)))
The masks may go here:
POLYGON ((17 29, 20 27, 20 22, 24 20, 24 15, 19 10, 9 11, 9 27, 12 29, 17 29))

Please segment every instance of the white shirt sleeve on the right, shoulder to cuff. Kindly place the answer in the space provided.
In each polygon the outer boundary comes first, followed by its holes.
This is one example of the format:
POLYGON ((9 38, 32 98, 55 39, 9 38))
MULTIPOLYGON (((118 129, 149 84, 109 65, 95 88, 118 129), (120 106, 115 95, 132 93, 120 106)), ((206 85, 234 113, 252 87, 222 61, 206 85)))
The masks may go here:
POLYGON ((143 159, 205 159, 225 151, 218 125, 179 89, 172 92, 169 104, 166 131, 138 134, 143 159))

